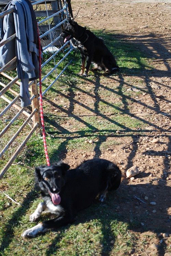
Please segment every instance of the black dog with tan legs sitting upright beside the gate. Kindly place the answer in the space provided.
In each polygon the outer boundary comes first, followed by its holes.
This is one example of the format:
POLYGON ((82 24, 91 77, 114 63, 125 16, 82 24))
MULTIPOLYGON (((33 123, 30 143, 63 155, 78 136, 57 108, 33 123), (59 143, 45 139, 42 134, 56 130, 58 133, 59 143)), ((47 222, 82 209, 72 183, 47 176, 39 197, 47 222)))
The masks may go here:
POLYGON ((64 43, 71 38, 76 40, 74 44, 79 49, 82 60, 79 75, 87 77, 91 62, 94 64, 93 70, 105 70, 104 75, 120 71, 120 68, 116 65, 114 56, 105 46, 103 40, 87 30, 86 27, 78 25, 73 19, 68 18, 68 25, 63 33, 61 33, 61 36, 65 38, 64 43), (84 72, 86 58, 87 63, 84 72))

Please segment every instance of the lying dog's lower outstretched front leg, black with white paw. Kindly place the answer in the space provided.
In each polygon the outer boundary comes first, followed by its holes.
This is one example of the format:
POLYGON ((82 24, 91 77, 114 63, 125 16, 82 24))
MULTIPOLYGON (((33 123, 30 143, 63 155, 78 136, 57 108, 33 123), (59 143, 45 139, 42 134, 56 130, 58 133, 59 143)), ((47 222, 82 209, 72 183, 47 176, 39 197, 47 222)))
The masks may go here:
POLYGON ((38 233, 46 232, 48 229, 56 229, 61 226, 74 222, 74 218, 64 214, 52 220, 40 222, 31 229, 27 229, 21 236, 23 237, 35 237, 38 233))

